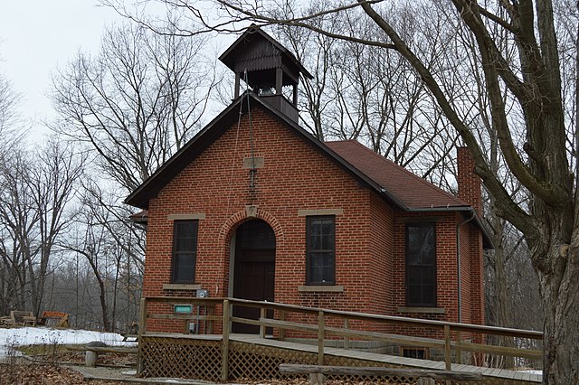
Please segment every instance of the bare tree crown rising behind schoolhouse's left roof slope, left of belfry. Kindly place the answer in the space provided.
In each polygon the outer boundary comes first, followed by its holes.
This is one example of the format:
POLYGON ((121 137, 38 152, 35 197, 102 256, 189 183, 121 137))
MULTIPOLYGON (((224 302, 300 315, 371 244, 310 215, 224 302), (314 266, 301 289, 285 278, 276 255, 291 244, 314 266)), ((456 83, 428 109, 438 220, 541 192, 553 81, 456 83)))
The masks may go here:
POLYGON ((81 141, 126 192, 200 127, 216 79, 204 40, 108 29, 95 57, 79 53, 53 80, 53 129, 81 141))

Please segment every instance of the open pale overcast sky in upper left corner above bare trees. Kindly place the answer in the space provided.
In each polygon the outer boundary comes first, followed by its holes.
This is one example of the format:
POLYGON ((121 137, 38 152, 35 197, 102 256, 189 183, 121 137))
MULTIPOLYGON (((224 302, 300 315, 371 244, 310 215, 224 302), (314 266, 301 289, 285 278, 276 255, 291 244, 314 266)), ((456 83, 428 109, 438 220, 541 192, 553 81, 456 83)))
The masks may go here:
POLYGON ((104 27, 120 19, 94 0, 1 0, 0 73, 22 94, 21 115, 35 126, 52 117, 52 70, 79 50, 98 50, 104 27))

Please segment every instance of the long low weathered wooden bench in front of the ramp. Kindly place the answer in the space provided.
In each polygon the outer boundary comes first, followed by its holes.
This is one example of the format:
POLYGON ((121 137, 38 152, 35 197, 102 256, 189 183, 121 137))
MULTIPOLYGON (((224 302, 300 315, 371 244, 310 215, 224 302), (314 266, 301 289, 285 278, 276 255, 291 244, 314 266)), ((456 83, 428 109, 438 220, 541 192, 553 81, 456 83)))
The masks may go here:
POLYGON ((384 367, 350 367, 280 364, 281 374, 309 374, 311 385, 322 385, 327 375, 345 376, 397 376, 418 379, 418 385, 434 385, 435 380, 480 381, 482 374, 467 371, 428 371, 424 369, 400 369, 384 367))

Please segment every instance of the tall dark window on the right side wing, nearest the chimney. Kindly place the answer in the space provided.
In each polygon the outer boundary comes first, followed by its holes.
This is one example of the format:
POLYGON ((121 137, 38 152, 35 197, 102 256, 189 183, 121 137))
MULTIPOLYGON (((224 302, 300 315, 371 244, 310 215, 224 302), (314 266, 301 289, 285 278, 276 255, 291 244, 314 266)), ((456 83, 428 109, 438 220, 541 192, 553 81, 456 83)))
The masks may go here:
POLYGON ((436 306, 434 223, 406 225, 406 305, 436 306))

